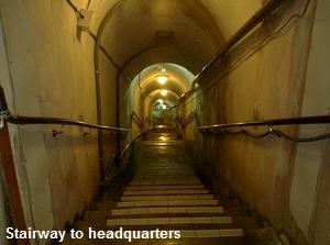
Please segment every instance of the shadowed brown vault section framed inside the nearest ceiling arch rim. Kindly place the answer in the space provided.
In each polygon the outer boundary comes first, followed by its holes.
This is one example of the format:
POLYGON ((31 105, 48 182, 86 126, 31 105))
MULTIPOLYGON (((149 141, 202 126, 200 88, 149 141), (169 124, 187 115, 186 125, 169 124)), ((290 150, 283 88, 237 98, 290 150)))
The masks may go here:
MULTIPOLYGON (((222 38, 208 11, 196 3, 191 0, 127 1, 109 21, 102 43, 121 66, 144 49, 153 62, 180 63, 197 73, 222 38)), ((132 60, 129 76, 141 69, 140 66, 141 62, 132 60)))

